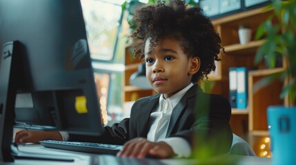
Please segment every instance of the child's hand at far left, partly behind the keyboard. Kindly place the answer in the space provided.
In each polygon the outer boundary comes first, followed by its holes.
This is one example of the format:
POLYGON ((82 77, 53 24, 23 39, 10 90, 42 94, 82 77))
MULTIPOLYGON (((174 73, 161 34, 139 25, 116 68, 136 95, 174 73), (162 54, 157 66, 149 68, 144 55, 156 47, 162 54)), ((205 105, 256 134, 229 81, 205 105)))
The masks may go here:
POLYGON ((16 143, 39 143, 41 140, 63 140, 61 133, 54 131, 28 131, 23 130, 16 133, 14 142, 16 143))

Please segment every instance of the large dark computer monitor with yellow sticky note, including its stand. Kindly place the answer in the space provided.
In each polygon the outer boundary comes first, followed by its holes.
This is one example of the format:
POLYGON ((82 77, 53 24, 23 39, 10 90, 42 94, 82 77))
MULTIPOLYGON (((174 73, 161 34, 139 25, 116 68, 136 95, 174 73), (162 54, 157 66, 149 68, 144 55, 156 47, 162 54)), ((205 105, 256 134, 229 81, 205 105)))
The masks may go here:
POLYGON ((27 129, 101 133, 79 0, 1 0, 0 52, 0 162, 13 161, 16 123, 27 129))

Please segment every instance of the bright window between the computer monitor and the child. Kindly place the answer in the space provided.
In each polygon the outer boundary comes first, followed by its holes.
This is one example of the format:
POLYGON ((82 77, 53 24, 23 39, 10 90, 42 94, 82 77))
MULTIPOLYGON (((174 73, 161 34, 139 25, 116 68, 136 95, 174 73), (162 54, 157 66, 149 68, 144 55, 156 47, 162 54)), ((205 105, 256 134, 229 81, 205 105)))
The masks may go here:
POLYGON ((122 118, 124 0, 81 0, 103 124, 122 118))

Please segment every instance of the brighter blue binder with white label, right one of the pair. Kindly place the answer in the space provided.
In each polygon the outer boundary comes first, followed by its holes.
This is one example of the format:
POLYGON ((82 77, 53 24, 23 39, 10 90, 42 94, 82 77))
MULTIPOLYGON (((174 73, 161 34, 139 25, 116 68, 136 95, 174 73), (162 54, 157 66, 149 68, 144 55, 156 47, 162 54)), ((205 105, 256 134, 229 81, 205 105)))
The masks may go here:
POLYGON ((237 67, 237 109, 248 106, 248 69, 237 67))

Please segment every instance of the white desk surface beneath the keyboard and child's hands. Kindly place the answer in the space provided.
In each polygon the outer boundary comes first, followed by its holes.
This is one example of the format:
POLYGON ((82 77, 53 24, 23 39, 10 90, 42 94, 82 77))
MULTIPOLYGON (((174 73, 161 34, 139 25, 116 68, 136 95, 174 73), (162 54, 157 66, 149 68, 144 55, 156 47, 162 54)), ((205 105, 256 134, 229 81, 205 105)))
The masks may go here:
MULTIPOLYGON (((19 145, 19 151, 26 155, 33 155, 39 157, 56 157, 73 159, 73 162, 62 162, 62 161, 48 161, 40 159, 16 159, 13 163, 5 164, 151 164, 151 165, 187 165, 187 164, 198 164, 197 160, 194 159, 132 159, 132 158, 119 158, 113 155, 95 155, 89 153, 79 153, 74 151, 63 151, 53 148, 45 148, 39 144, 26 144, 19 145)), ((268 165, 271 164, 271 159, 266 157, 250 157, 250 156, 238 156, 238 155, 221 155, 210 160, 210 162, 225 162, 226 164, 238 164, 238 165, 268 165)), ((1 162, 0 162, 1 164, 1 162)))

